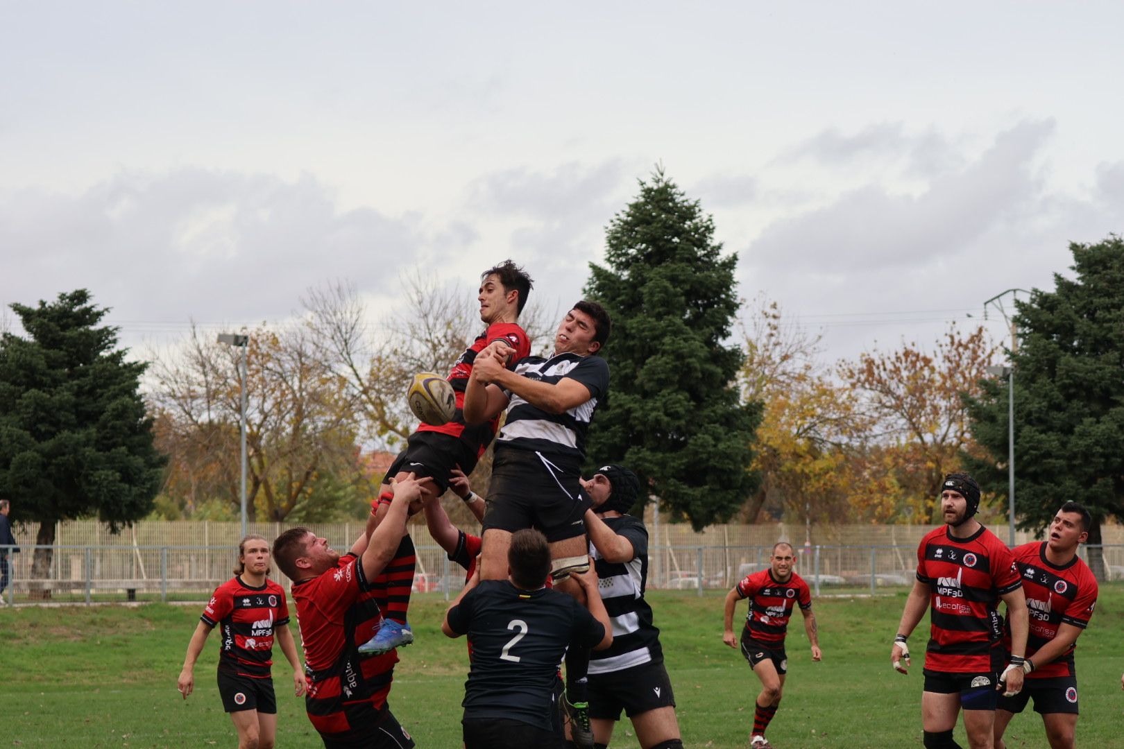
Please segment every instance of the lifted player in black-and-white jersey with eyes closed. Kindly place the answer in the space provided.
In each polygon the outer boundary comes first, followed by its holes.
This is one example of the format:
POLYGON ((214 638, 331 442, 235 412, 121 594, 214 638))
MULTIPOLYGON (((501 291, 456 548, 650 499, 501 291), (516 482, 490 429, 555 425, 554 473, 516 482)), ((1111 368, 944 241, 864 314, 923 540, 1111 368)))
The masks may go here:
MULTIPOLYGON (((609 366, 597 356, 609 329, 609 316, 601 305, 581 301, 559 325, 550 358, 528 357, 510 372, 502 365, 509 354, 502 341, 477 357, 464 392, 465 421, 495 419, 507 409, 488 485, 482 579, 506 579, 511 533, 537 528, 550 542, 556 587, 583 600, 581 587, 566 577, 589 569, 582 518, 590 501, 581 487, 581 463, 586 432, 609 387, 609 366)), ((570 648, 566 702, 571 734, 579 748, 591 749, 588 665, 588 648, 570 648)))

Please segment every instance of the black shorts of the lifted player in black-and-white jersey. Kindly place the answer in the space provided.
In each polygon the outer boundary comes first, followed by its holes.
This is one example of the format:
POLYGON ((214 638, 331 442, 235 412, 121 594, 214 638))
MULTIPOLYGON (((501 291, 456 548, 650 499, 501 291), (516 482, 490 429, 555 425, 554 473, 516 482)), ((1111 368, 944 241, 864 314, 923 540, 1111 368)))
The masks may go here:
POLYGON ((584 536, 586 510, 591 505, 581 491, 580 477, 578 466, 560 465, 556 458, 533 450, 498 449, 483 529, 514 533, 537 528, 547 541, 584 536))

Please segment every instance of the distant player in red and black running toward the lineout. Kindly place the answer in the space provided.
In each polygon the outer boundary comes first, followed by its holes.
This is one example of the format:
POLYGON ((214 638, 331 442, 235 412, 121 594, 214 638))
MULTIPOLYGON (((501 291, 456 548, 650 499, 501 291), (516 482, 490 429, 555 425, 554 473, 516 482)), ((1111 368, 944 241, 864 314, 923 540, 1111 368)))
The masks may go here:
POLYGON ((750 733, 750 746, 753 749, 769 749, 771 746, 764 734, 780 705, 788 674, 785 636, 788 632, 788 620, 797 605, 804 615, 804 631, 812 643, 812 659, 819 660, 823 657, 816 615, 812 613, 812 590, 792 572, 795 564, 792 545, 781 541, 773 546, 768 569, 746 575, 726 594, 726 629, 722 641, 732 648, 737 647, 734 638, 734 609, 742 599, 750 600, 741 646, 742 655, 761 679, 761 694, 754 702, 753 731, 750 733))

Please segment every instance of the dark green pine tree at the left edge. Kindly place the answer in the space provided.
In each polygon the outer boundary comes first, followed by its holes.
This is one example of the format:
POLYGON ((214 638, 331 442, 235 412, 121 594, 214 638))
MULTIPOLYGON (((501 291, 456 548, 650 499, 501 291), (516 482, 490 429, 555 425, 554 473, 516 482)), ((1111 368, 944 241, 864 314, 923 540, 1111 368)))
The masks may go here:
MULTIPOLYGON (((38 307, 12 304, 27 337, 0 339, 0 491, 15 519, 39 523, 49 546, 55 523, 98 519, 116 530, 153 508, 163 457, 138 392, 144 363, 125 360, 109 311, 85 290, 38 307)), ((51 549, 33 576, 45 577, 51 549)))

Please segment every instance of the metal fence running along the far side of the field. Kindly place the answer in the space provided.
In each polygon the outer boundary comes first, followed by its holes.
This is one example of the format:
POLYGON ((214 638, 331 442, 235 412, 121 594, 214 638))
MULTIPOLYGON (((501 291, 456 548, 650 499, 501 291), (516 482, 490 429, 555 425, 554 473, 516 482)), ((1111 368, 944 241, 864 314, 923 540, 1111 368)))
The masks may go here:
MULTIPOLYGON (((337 544, 336 548, 343 547, 337 544)), ((343 547, 346 548, 346 547, 343 547)), ((796 569, 816 595, 891 593, 913 585, 916 546, 797 547, 796 569)), ((1124 578, 1124 545, 1100 549, 1108 579, 1124 578)), ((653 546, 649 555, 649 587, 696 591, 725 590, 745 575, 769 566, 768 546, 653 546)), ((12 551, 0 547, 0 551, 12 551)), ((1080 547, 1088 559, 1090 547, 1080 547)), ((24 546, 8 554, 10 579, 7 603, 93 603, 117 601, 202 601, 229 579, 236 546, 24 546), (36 549, 49 549, 49 565, 34 569, 36 549)), ((417 547, 417 593, 455 595, 464 572, 437 546, 417 547)), ((271 575, 288 587, 280 570, 271 575)))

